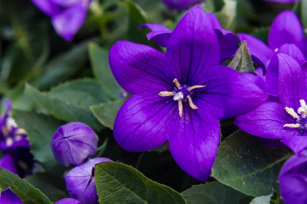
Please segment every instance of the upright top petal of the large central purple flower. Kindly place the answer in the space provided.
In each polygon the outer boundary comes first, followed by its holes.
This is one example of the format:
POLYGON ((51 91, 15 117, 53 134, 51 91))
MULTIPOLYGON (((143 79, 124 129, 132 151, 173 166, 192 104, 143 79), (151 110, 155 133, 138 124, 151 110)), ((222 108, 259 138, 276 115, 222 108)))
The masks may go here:
POLYGON ((209 17, 200 6, 177 24, 166 49, 166 63, 182 84, 201 85, 209 68, 220 62, 220 48, 209 17))

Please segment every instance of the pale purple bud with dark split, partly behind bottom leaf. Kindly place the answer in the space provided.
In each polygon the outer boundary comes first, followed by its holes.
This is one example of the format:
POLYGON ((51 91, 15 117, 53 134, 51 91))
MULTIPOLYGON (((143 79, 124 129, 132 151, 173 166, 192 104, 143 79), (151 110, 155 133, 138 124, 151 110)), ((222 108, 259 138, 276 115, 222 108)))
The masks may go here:
POLYGON ((79 200, 81 204, 96 204, 98 201, 94 166, 101 162, 112 162, 112 160, 94 158, 76 166, 64 176, 68 194, 79 200))

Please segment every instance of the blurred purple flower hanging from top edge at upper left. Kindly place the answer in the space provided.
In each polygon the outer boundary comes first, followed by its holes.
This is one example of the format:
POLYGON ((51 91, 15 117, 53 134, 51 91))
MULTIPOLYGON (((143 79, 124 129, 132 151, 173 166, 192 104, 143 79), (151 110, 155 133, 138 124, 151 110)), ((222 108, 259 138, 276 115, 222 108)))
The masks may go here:
POLYGON ((86 19, 92 0, 31 0, 43 13, 51 17, 56 32, 71 41, 86 19))

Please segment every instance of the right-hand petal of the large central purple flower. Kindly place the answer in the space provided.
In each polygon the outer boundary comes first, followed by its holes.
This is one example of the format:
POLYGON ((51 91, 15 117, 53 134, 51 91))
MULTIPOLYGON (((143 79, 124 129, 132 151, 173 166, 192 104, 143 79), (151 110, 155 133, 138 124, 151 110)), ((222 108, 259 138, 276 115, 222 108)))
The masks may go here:
POLYGON ((195 89, 199 103, 208 107, 217 119, 245 114, 264 103, 268 95, 257 85, 227 66, 206 72, 205 88, 195 89))

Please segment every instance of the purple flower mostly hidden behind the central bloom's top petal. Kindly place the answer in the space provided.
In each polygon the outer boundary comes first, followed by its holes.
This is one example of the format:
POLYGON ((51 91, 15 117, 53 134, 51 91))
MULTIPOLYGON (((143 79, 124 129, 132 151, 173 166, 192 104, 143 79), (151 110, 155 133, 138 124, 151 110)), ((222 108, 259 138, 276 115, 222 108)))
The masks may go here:
MULTIPOLYGON (((218 22, 213 13, 208 13, 207 17, 214 28, 218 43, 220 45, 220 62, 222 63, 235 55, 238 41, 233 33, 222 29, 220 22, 218 22)), ((148 40, 152 39, 160 46, 167 47, 172 33, 168 28, 166 28, 164 25, 154 23, 143 24, 140 26, 140 29, 142 28, 148 28, 151 30, 151 32, 147 34, 148 40)))

